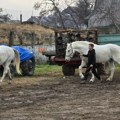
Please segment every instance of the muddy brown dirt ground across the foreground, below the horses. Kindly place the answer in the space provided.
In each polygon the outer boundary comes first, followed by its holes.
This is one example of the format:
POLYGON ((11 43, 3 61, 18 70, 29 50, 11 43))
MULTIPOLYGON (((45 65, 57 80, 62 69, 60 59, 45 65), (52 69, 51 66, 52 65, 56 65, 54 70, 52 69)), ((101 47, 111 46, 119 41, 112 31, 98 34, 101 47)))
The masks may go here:
POLYGON ((0 120, 120 120, 120 78, 80 84, 76 75, 16 77, 0 87, 0 120))

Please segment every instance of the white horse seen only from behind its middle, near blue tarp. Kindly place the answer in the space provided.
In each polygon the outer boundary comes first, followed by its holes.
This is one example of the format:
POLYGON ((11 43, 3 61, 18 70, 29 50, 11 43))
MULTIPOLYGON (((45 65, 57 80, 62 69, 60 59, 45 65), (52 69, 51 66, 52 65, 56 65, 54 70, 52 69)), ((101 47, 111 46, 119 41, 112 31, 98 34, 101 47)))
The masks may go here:
POLYGON ((3 75, 1 77, 0 83, 5 78, 6 74, 8 73, 10 80, 12 80, 11 72, 10 72, 10 64, 13 62, 13 65, 16 66, 16 71, 18 74, 21 74, 20 72, 20 58, 19 53, 8 46, 0 46, 0 65, 4 67, 3 75))

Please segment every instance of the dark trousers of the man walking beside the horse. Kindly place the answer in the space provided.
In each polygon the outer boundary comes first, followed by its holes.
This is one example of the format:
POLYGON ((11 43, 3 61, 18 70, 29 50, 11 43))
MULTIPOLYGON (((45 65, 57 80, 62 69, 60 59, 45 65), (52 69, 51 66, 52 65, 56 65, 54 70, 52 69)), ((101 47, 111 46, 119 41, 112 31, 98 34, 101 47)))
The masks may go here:
POLYGON ((87 80, 89 72, 92 71, 92 73, 94 74, 94 76, 100 80, 100 75, 97 73, 95 66, 93 67, 87 67, 86 72, 85 72, 85 80, 87 80))

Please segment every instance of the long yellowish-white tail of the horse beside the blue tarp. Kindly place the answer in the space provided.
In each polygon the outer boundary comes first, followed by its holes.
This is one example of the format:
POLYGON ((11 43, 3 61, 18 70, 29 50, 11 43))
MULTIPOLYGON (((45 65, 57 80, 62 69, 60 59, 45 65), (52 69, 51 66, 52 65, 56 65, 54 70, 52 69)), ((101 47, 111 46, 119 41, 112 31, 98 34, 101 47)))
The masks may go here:
POLYGON ((14 53, 15 53, 15 66, 16 66, 16 71, 18 74, 21 74, 20 72, 20 57, 19 57, 19 53, 15 50, 14 50, 14 53))

